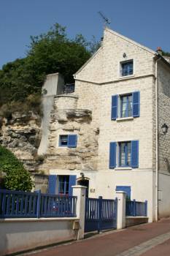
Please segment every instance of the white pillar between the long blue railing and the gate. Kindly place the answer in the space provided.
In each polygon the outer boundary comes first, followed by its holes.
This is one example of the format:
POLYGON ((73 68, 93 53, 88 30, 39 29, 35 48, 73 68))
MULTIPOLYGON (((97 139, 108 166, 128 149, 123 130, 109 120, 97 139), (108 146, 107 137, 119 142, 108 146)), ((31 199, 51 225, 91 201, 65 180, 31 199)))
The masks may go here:
POLYGON ((73 196, 77 197, 76 214, 77 218, 80 219, 77 240, 80 240, 84 238, 85 233, 85 190, 87 187, 76 185, 72 186, 72 188, 73 196))

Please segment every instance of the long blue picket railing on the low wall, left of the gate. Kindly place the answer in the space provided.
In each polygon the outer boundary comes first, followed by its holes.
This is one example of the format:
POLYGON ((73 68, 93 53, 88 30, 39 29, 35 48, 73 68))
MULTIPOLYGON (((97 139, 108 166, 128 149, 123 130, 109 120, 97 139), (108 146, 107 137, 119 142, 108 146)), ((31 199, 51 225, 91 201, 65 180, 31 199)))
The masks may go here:
POLYGON ((77 197, 0 189, 0 218, 76 217, 77 197))

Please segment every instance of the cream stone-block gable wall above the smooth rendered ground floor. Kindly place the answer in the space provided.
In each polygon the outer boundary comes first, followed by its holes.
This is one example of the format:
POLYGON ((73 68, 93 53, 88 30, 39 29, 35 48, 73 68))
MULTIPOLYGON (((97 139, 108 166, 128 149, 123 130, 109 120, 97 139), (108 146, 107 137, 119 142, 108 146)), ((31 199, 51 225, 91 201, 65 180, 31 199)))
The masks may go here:
POLYGON ((77 108, 92 110, 93 122, 100 128, 98 170, 109 170, 109 143, 123 140, 139 140, 139 168, 152 170, 154 125, 152 103, 155 85, 153 57, 154 51, 115 31, 105 29, 100 50, 75 76, 75 93, 79 96, 77 108), (134 60, 134 74, 121 77, 120 61, 130 59, 134 60), (98 72, 91 72, 93 68, 98 72), (134 91, 140 91, 139 118, 112 121, 112 95, 134 91))

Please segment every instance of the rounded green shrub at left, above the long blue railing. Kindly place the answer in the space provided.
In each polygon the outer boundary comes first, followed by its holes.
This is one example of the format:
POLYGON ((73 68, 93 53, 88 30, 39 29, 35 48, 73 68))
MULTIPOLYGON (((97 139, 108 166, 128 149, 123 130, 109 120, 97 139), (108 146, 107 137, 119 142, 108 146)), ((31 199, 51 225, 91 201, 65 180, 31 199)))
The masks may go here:
POLYGON ((33 181, 23 163, 4 146, 0 146, 0 171, 5 173, 4 186, 10 190, 31 191, 33 181))

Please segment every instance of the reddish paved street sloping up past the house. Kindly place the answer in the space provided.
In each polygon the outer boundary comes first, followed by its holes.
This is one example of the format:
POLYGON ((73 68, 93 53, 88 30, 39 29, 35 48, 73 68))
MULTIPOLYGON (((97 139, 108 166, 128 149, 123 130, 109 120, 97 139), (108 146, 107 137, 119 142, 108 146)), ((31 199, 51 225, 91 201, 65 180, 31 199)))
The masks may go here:
MULTIPOLYGON (((72 244, 54 246, 35 256, 130 256, 130 255, 170 255, 170 218, 156 223, 129 227, 125 230, 103 233, 72 244), (159 244, 159 245, 158 245, 159 244), (161 244, 166 244, 162 246, 161 244), (163 247, 165 254, 160 251, 163 247), (151 248, 151 249, 150 249, 151 248), (154 253, 152 253, 154 250, 154 253)), ((27 254, 28 255, 28 254, 27 254)))

